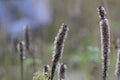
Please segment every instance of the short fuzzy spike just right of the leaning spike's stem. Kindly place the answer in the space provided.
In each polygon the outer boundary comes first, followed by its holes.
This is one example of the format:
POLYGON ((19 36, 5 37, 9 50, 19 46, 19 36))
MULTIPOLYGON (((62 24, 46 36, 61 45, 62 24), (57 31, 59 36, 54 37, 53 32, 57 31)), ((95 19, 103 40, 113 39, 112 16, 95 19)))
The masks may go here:
POLYGON ((58 70, 58 80, 65 80, 67 66, 65 64, 60 64, 58 70))

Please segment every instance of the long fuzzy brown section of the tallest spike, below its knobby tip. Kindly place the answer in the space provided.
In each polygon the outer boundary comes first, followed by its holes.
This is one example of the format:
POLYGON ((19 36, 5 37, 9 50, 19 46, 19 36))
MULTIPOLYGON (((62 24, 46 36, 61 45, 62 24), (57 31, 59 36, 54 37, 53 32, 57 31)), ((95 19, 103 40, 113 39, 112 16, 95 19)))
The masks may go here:
MULTIPOLYGON (((102 59, 110 53, 110 28, 107 19, 100 21, 102 59)), ((109 61, 108 61, 109 62, 109 61)))

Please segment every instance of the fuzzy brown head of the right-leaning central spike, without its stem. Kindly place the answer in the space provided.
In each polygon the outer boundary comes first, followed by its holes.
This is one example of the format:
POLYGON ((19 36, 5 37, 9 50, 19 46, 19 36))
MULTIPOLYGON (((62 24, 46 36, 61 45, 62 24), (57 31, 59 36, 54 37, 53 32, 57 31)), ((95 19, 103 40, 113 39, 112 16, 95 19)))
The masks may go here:
POLYGON ((67 25, 62 24, 57 36, 55 37, 52 61, 54 61, 55 59, 59 60, 60 58, 62 58, 64 42, 66 40, 68 30, 69 29, 67 25))

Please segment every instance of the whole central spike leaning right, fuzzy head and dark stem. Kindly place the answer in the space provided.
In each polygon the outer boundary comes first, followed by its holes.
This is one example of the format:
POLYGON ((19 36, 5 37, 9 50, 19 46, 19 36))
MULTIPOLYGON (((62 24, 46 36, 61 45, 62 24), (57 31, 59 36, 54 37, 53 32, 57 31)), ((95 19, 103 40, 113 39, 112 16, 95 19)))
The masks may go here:
POLYGON ((52 59, 53 64, 52 64, 50 80, 53 80, 58 61, 62 58, 64 42, 67 37, 67 32, 68 32, 67 25, 62 24, 54 41, 54 51, 53 51, 53 59, 52 59))

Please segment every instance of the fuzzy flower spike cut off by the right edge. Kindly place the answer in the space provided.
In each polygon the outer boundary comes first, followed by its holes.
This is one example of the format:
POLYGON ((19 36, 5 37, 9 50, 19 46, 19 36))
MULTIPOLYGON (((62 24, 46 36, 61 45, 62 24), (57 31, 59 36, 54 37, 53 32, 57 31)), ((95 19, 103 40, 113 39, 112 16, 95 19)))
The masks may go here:
POLYGON ((120 39, 117 39, 117 64, 115 75, 117 80, 120 80, 120 39))

